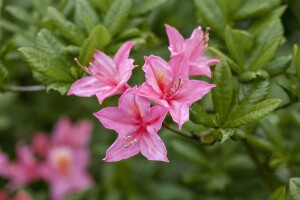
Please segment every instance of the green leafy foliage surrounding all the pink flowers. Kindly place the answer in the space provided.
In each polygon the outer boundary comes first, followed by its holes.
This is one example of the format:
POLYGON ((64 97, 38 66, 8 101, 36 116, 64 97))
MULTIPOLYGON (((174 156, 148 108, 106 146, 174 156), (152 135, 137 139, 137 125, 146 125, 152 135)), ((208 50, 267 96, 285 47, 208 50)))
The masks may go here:
MULTIPOLYGON (((299 8, 296 0, 0 0, 1 150, 13 158, 18 141, 50 131, 60 116, 87 118, 95 185, 69 199, 300 199, 292 178, 300 176, 299 8), (118 97, 100 106, 66 96, 83 75, 73 59, 87 65, 94 48, 113 55, 128 40, 137 42, 131 56, 139 66, 144 55, 168 59, 164 24, 185 37, 210 27, 207 53, 222 57, 218 87, 193 105, 183 127, 196 140, 163 128, 169 164, 140 155, 104 163, 116 134, 91 114, 118 97), (30 85, 42 90, 14 91, 30 85)), ((143 80, 139 67, 130 84, 143 80)), ((44 184, 23 189, 48 199, 44 184)))

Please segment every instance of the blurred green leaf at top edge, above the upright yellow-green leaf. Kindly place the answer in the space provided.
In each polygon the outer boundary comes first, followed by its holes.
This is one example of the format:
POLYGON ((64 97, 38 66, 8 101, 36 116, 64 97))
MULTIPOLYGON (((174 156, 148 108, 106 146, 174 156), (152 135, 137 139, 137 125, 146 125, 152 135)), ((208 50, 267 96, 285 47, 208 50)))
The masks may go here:
POLYGON ((82 30, 89 34, 98 24, 99 18, 88 1, 76 0, 74 21, 82 30))

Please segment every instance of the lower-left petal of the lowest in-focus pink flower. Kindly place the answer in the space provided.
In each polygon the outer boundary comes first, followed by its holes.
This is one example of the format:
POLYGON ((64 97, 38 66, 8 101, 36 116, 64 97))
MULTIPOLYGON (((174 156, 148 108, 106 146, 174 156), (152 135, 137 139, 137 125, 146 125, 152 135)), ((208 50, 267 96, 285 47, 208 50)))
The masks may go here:
MULTIPOLYGON (((125 136, 126 137, 126 136, 125 136)), ((119 135, 117 140, 108 148, 105 162, 116 162, 130 158, 140 151, 139 142, 125 148, 125 145, 130 144, 130 141, 125 141, 124 136, 119 135)))

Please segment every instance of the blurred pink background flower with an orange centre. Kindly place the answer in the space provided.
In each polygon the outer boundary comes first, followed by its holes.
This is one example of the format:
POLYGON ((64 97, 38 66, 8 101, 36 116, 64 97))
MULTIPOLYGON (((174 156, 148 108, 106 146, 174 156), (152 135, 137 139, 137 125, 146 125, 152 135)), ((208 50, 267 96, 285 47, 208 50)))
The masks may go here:
POLYGON ((63 200, 70 193, 89 187, 92 179, 87 173, 87 149, 74 150, 69 146, 54 146, 48 152, 40 173, 50 185, 53 200, 63 200))

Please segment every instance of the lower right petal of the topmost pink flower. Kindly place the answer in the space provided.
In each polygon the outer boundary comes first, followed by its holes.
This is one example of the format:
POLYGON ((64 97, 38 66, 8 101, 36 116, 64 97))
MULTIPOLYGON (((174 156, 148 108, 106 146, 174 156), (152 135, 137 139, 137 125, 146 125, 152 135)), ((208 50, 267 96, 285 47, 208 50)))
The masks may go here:
POLYGON ((215 65, 220 61, 220 58, 210 58, 201 56, 194 63, 190 63, 189 74, 191 76, 207 76, 211 78, 210 66, 215 65))

